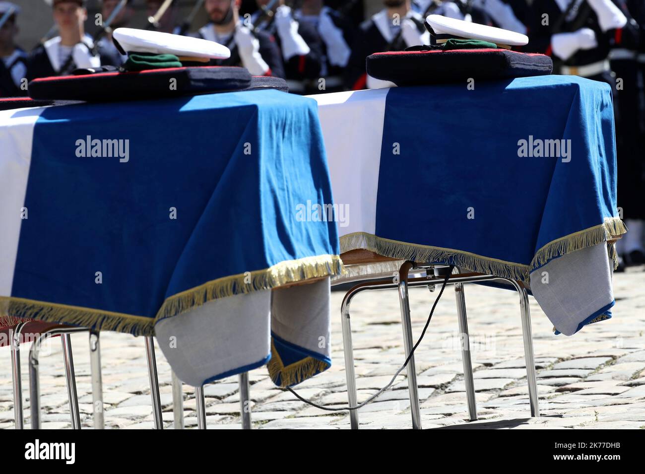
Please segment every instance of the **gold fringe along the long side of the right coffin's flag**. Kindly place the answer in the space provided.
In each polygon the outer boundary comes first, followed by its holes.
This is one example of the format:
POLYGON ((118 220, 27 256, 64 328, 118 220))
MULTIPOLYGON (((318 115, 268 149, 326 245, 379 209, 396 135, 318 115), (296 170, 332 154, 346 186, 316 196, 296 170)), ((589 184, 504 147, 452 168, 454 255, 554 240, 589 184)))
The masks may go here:
POLYGON ((452 248, 416 245, 408 242, 383 239, 371 233, 354 232, 341 237, 341 252, 364 248, 384 257, 413 262, 452 261, 456 266, 471 272, 486 273, 513 280, 528 280, 529 266, 452 248))

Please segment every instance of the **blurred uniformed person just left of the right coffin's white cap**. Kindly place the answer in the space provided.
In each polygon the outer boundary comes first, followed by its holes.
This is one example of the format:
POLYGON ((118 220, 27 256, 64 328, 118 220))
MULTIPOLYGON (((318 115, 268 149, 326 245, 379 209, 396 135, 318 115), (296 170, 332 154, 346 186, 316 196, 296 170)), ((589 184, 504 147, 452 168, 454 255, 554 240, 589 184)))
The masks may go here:
POLYGON ((388 86, 368 77, 365 59, 370 54, 430 43, 430 34, 423 26, 424 18, 412 9, 410 0, 384 0, 383 4, 385 8, 362 23, 353 41, 345 78, 349 89, 388 86))

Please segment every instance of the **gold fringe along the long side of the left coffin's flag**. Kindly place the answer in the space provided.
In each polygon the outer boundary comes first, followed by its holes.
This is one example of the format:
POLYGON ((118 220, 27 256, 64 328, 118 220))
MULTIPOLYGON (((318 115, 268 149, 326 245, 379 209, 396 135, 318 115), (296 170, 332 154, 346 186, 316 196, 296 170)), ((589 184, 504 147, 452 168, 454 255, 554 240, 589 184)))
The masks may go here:
POLYGON ((24 298, 0 297, 0 313, 13 317, 45 322, 59 322, 101 331, 132 333, 135 336, 154 335, 152 318, 112 311, 93 310, 81 306, 48 303, 24 298))

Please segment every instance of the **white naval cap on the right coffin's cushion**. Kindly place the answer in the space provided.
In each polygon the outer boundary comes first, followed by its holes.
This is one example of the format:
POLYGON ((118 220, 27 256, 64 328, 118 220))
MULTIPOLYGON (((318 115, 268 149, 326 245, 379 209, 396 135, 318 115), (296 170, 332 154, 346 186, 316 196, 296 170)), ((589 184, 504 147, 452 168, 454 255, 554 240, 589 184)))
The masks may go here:
POLYGON ((450 38, 477 39, 498 46, 524 46, 528 43, 528 36, 521 33, 441 15, 428 16, 426 28, 435 36, 437 43, 445 43, 450 38))

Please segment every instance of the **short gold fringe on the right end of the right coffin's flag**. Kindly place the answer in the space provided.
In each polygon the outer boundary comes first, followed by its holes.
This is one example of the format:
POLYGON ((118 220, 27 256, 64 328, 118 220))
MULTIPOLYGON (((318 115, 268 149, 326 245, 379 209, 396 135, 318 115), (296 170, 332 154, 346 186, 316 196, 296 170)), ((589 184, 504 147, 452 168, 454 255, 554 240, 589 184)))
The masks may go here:
MULTIPOLYGON (((609 241, 611 237, 616 237, 626 232, 627 228, 619 217, 608 217, 604 223, 598 226, 570 233, 561 239, 549 242, 535 253, 533 261, 531 261, 531 268, 542 266, 555 257, 561 257, 562 255, 609 241)), ((613 253, 610 251, 610 255, 614 261, 614 266, 617 266, 618 256, 615 250, 613 253)))

